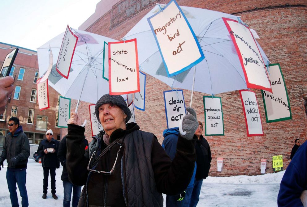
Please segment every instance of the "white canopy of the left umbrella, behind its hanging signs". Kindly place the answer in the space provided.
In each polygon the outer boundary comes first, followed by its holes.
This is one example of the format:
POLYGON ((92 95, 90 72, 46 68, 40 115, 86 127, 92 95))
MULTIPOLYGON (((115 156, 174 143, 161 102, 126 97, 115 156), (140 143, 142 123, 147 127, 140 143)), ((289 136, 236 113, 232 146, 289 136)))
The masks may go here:
POLYGON ((102 95, 109 93, 109 82, 102 78, 104 42, 118 40, 77 29, 71 31, 78 36, 78 42, 69 78, 62 77, 55 70, 64 32, 37 49, 39 73, 42 75, 48 69, 50 47, 53 67, 48 77, 49 85, 64 97, 96 103, 102 95))

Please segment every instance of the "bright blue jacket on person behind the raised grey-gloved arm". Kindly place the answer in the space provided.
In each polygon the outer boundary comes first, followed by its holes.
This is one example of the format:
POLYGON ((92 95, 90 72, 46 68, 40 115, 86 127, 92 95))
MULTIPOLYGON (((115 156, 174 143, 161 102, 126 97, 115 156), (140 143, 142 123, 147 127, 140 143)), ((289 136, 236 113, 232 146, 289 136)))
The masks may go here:
MULTIPOLYGON (((179 129, 165 129, 163 131, 164 140, 162 142, 162 147, 164 148, 166 154, 173 160, 175 158, 176 149, 177 149, 177 141, 178 141, 179 129)), ((191 181, 187 188, 191 188, 194 186, 195 180, 195 173, 196 173, 196 162, 193 171, 193 175, 191 181)))

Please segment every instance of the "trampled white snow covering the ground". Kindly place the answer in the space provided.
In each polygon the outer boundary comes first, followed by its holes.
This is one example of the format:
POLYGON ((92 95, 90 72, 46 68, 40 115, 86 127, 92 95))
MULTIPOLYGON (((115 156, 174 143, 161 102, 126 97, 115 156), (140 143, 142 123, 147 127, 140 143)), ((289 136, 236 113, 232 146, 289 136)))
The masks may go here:
MULTIPOLYGON (((4 162, 4 169, 0 171, 0 206, 11 206, 10 193, 6 182, 7 163, 4 162)), ((63 183, 61 180, 62 166, 56 169, 56 195, 54 200, 51 195, 50 177, 47 199, 43 195, 43 168, 41 164, 33 159, 28 159, 27 168, 27 191, 29 206, 55 207, 63 206, 63 183)), ((279 184, 284 171, 264 175, 239 175, 232 177, 208 177, 203 181, 201 188, 199 207, 263 207, 277 206, 277 195, 279 184)), ((17 187, 18 201, 21 206, 21 197, 17 187)), ((165 195, 164 206, 165 206, 165 195)))

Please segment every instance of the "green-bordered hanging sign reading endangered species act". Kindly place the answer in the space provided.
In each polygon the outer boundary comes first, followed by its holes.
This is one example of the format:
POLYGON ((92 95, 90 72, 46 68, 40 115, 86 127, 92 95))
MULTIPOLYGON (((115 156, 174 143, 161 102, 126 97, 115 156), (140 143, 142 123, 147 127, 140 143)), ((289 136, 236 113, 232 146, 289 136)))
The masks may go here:
POLYGON ((224 135, 222 102, 220 97, 204 96, 205 136, 224 135))

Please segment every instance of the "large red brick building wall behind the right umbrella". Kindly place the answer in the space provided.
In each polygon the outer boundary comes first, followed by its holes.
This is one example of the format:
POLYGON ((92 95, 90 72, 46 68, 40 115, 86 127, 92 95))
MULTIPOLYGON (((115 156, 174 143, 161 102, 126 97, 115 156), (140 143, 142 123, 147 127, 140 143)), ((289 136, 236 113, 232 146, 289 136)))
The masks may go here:
MULTIPOLYGON (((218 94, 222 99, 225 136, 205 137, 211 147, 211 176, 257 175, 260 160, 267 159, 266 173, 272 172, 272 156, 283 155, 284 169, 290 162, 290 152, 296 138, 306 140, 307 117, 302 95, 307 94, 306 44, 307 4, 303 0, 277 1, 212 1, 178 0, 179 5, 205 8, 241 16, 244 23, 256 30, 258 40, 271 63, 280 63, 291 105, 292 120, 266 123, 260 90, 256 92, 262 119, 264 136, 247 137, 239 91, 218 94), (222 172, 217 171, 216 158, 223 157, 222 172)), ((102 0, 96 12, 79 29, 120 40, 159 0, 102 0)), ((170 90, 166 84, 146 76, 146 111, 135 110, 136 122, 144 131, 154 133, 162 143, 166 117, 163 91, 170 90)), ((191 91, 184 90, 186 105, 191 91)), ((204 122, 202 96, 194 92, 192 107, 198 119, 204 122)), ((76 104, 73 102, 72 104, 76 104)), ((79 113, 89 118, 88 103, 81 103, 79 113)), ((63 131, 63 134, 66 133, 63 131)), ((90 126, 86 127, 90 140, 90 126)))

